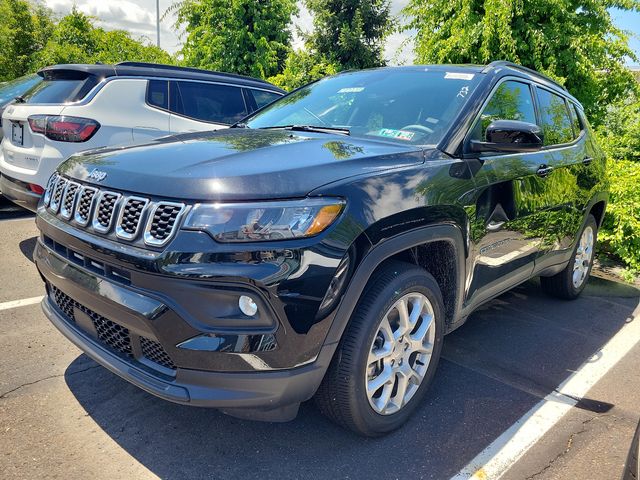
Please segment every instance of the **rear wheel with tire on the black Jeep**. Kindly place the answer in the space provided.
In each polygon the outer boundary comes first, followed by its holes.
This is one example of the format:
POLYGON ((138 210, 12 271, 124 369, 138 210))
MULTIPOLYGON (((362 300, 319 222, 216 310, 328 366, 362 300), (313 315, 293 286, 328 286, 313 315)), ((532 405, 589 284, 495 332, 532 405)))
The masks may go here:
POLYGON ((540 277, 542 290, 553 297, 562 298, 564 300, 574 300, 578 298, 589 280, 589 274, 593 267, 594 250, 597 239, 598 224, 594 216, 589 214, 587 216, 587 221, 580 231, 580 235, 576 241, 576 246, 573 250, 573 255, 571 255, 569 263, 564 270, 552 277, 540 277), (589 231, 591 231, 592 234, 591 246, 588 247, 588 249, 585 249, 585 246, 588 246, 589 231), (585 236, 587 239, 585 239, 585 236), (576 273, 576 269, 579 268, 578 263, 580 262, 580 259, 582 259, 582 267, 580 267, 580 271, 576 273), (585 262, 588 264, 585 265, 585 262), (577 283, 575 281, 576 277, 574 277, 574 274, 579 277, 579 281, 577 283))

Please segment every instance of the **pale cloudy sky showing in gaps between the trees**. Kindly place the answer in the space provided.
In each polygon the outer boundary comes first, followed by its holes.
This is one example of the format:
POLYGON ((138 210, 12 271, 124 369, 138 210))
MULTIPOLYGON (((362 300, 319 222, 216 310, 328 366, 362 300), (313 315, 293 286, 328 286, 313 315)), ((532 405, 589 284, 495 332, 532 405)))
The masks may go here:
MULTIPOLYGON (((398 15, 409 0, 391 0, 391 13, 398 15)), ((160 15, 169 8, 174 0, 160 0, 160 15)), ((156 0, 44 0, 54 12, 66 14, 75 3, 78 9, 100 19, 107 30, 123 29, 134 37, 143 37, 150 42, 156 41, 156 0)), ((310 13, 299 2, 300 13, 294 24, 303 31, 309 31, 312 25, 310 13)), ((640 12, 612 10, 616 25, 632 33, 630 45, 640 57, 640 12)), ((170 53, 180 50, 180 32, 174 28, 175 19, 167 15, 160 23, 160 46, 170 53)), ((413 45, 411 32, 395 33, 387 39, 385 58, 392 65, 411 63, 413 45)), ((295 35, 294 47, 302 47, 301 39, 295 35)))

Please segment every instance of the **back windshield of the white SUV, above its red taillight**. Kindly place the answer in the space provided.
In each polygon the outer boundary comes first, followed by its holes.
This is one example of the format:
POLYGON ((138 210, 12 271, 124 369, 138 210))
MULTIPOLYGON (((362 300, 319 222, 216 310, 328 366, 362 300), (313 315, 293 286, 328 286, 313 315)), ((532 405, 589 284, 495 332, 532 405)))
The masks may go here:
POLYGON ((83 72, 55 72, 23 95, 26 103, 70 103, 82 100, 98 84, 95 75, 83 72))

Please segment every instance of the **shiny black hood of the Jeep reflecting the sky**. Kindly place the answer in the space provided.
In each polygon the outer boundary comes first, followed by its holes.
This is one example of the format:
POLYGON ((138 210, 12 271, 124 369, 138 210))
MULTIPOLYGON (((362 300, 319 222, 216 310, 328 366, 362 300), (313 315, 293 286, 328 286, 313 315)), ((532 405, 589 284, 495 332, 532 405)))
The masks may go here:
POLYGON ((227 129, 84 152, 70 157, 60 171, 101 188, 228 201, 302 197, 337 180, 423 161, 420 148, 385 141, 227 129))

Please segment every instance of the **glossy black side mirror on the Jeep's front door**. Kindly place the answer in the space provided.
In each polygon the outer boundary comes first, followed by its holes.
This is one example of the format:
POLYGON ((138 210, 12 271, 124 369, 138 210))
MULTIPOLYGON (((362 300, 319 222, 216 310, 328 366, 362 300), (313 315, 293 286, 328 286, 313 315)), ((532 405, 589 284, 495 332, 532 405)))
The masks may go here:
POLYGON ((471 140, 473 152, 535 152, 542 148, 538 125, 518 120, 494 120, 487 127, 487 141, 471 140))

